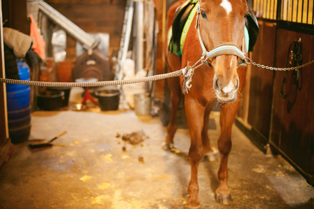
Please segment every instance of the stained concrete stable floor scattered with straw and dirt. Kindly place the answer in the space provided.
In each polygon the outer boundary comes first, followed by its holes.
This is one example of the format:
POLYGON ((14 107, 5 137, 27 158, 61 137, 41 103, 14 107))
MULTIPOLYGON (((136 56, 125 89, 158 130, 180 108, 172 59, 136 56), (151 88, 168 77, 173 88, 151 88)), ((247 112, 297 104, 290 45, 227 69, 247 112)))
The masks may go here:
MULTIPOLYGON (((217 147, 219 113, 211 117, 217 129, 209 133, 217 147)), ((175 135, 180 153, 168 153, 162 150, 166 127, 159 118, 138 117, 134 111, 36 111, 31 124, 31 139, 68 133, 52 148, 14 147, 0 168, 0 208, 166 209, 187 202, 188 130, 175 135), (138 146, 116 138, 138 130, 149 137, 138 146)), ((228 164, 233 202, 219 205, 214 200, 219 155, 215 158, 199 167, 202 208, 314 208, 314 187, 281 156, 261 153, 235 126, 228 164)))

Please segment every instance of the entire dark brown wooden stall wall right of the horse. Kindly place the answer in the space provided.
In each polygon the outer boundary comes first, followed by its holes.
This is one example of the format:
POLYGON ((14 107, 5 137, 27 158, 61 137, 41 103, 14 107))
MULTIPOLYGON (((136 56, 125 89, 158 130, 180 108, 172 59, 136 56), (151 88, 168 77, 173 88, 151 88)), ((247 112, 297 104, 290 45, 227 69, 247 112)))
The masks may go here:
MULTIPOLYGON (((280 22, 279 22, 280 23, 280 22)), ((278 22, 259 20, 260 36, 251 59, 263 65, 285 68, 289 47, 301 40, 303 63, 314 59, 314 36, 283 29, 278 22)), ((287 25, 286 25, 287 26, 287 25)), ((288 24, 289 26, 289 24, 288 24)), ((292 71, 272 71, 251 66, 248 116, 240 109, 236 124, 260 150, 281 153, 314 185, 314 65, 299 71, 299 89, 292 71), (283 77, 287 76, 283 85, 283 77), (281 89, 287 98, 281 96, 281 89), (295 104, 289 109, 288 101, 295 104), (269 149, 269 147, 271 149, 269 149)), ((246 96, 246 95, 244 95, 246 96)))

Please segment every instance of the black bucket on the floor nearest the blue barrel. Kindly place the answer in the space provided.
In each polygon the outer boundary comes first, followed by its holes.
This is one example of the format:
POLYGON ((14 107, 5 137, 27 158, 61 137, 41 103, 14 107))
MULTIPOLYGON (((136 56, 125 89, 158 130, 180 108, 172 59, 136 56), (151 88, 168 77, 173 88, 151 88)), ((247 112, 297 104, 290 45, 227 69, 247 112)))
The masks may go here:
POLYGON ((42 110, 58 110, 63 105, 63 91, 44 91, 37 95, 37 106, 42 110))

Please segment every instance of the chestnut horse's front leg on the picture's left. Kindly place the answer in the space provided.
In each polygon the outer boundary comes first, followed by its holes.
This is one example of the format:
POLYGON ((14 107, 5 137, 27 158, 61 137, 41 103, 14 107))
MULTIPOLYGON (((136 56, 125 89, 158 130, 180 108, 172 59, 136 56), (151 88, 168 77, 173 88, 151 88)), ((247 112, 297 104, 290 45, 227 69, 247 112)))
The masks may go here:
POLYGON ((198 201, 198 165, 203 157, 204 148, 202 142, 202 130, 204 122, 205 107, 202 107, 194 98, 185 96, 185 111, 187 114, 187 123, 191 136, 191 146, 189 148, 189 162, 191 164, 191 180, 189 182, 188 192, 189 201, 187 208, 199 208, 198 201))

